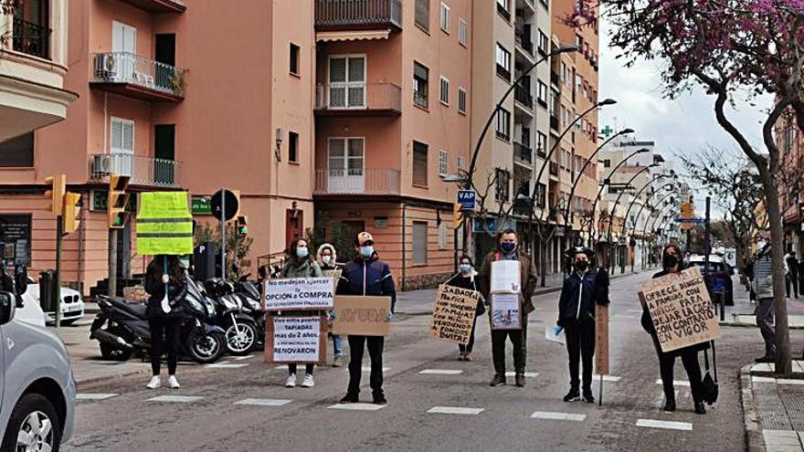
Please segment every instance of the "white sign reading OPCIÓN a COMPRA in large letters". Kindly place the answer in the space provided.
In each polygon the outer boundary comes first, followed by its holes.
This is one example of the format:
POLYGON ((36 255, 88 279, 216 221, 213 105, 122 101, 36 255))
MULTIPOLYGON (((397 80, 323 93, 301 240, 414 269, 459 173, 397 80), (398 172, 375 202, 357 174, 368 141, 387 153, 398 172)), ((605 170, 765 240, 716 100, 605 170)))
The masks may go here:
POLYGON ((329 278, 266 279, 265 310, 331 310, 333 280, 329 278))

